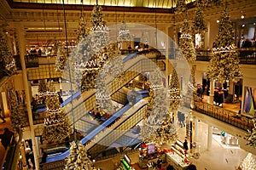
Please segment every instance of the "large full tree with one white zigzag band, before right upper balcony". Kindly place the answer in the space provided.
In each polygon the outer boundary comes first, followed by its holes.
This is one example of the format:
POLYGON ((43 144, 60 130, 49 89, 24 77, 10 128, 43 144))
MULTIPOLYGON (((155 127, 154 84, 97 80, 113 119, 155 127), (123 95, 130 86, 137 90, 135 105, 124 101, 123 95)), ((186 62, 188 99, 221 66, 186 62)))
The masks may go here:
POLYGON ((233 38, 233 27, 230 14, 224 8, 219 23, 218 35, 213 42, 213 56, 207 70, 207 77, 219 82, 236 82, 241 77, 238 51, 233 38))

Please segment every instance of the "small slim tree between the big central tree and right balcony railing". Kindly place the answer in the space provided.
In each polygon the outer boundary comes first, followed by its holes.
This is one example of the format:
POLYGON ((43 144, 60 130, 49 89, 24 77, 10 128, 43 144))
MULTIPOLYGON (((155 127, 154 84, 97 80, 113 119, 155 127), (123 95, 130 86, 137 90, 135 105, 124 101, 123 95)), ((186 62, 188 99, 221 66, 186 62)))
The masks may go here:
POLYGON ((179 90, 179 81, 178 81, 177 72, 175 71, 175 68, 173 68, 172 70, 172 77, 169 83, 169 99, 170 99, 169 111, 176 112, 180 104, 181 95, 179 90))

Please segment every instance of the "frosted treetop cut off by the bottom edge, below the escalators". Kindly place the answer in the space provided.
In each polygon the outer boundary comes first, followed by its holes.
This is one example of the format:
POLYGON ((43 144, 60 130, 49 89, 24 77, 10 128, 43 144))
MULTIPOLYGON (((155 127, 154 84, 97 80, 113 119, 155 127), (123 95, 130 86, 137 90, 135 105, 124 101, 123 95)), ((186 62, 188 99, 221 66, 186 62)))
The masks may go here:
POLYGON ((90 161, 87 150, 81 142, 72 142, 70 147, 70 155, 66 158, 65 170, 92 170, 92 162, 90 161))

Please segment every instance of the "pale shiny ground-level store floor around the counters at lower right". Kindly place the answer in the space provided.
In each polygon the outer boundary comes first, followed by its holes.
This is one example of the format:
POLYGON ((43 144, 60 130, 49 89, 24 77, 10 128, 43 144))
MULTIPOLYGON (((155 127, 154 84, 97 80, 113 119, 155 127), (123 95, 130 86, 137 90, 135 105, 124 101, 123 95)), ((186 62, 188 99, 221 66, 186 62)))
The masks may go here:
MULTIPOLYGON (((197 147, 195 152, 200 154, 198 159, 193 157, 193 153, 189 153, 189 160, 195 164, 198 170, 235 170, 240 162, 247 156, 248 152, 241 150, 238 147, 227 147, 224 144, 219 144, 218 140, 212 138, 212 147, 207 150, 208 125, 204 122, 198 122, 199 133, 198 141, 195 141, 197 147)), ((185 138, 185 127, 181 127, 177 131, 178 139, 183 141, 185 138)), ((170 144, 162 145, 163 148, 171 148, 170 144)), ((138 161, 138 153, 128 154, 131 158, 131 164, 138 161)), ((256 156, 254 156, 256 159, 256 156)), ((102 170, 114 170, 120 157, 113 158, 107 161, 96 162, 96 167, 102 167, 102 170)), ((133 166, 136 170, 141 168, 137 165, 133 166)))

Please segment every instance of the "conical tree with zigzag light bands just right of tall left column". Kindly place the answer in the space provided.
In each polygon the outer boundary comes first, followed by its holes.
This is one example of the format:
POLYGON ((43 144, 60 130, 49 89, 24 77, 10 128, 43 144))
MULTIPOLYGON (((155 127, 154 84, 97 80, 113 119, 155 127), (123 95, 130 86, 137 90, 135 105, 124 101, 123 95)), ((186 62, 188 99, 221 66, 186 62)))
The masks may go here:
POLYGON ((52 82, 48 84, 46 92, 46 116, 44 118, 43 139, 49 143, 60 143, 72 133, 71 123, 61 108, 59 95, 52 82))

